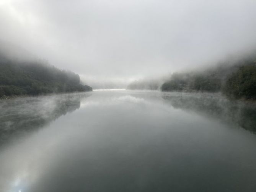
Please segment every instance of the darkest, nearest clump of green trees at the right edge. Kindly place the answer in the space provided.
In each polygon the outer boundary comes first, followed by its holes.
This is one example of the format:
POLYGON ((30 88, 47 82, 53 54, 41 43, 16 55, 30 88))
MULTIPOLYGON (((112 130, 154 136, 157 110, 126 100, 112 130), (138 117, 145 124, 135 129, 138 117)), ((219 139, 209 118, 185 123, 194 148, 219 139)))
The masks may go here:
POLYGON ((234 98, 256 99, 256 65, 240 67, 227 79, 224 93, 234 98))

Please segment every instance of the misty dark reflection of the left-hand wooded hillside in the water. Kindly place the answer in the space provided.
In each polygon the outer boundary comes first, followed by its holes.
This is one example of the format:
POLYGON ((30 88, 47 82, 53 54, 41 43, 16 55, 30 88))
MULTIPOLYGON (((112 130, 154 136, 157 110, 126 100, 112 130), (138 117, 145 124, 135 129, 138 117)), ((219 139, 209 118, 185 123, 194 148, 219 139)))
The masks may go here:
POLYGON ((28 97, 0 102, 0 144, 18 134, 46 126, 51 121, 80 108, 88 93, 28 97))

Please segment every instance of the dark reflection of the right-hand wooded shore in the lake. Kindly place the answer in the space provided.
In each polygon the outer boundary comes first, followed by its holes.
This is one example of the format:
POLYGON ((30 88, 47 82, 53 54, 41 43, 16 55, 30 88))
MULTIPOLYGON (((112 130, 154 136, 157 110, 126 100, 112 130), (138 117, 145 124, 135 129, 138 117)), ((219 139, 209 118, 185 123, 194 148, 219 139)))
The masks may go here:
POLYGON ((207 93, 166 93, 162 97, 174 108, 206 114, 256 134, 256 103, 232 101, 220 94, 207 93))

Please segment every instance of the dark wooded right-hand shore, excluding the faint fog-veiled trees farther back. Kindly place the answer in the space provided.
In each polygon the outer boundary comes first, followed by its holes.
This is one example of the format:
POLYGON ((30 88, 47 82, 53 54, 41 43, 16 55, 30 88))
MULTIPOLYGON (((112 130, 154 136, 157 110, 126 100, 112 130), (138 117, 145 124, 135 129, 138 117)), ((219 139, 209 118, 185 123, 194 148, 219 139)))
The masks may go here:
POLYGON ((202 72, 173 73, 161 90, 222 92, 236 99, 256 99, 256 59, 222 63, 202 72))

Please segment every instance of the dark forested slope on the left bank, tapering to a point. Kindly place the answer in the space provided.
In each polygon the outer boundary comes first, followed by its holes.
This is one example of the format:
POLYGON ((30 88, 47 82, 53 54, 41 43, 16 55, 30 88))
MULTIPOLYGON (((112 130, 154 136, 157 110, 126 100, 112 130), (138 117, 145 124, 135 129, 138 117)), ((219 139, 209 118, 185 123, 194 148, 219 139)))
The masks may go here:
POLYGON ((91 90, 90 86, 80 84, 78 74, 49 64, 0 60, 0 97, 91 90))

